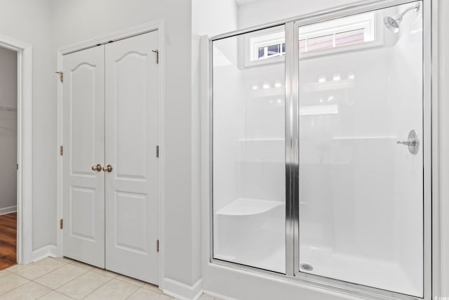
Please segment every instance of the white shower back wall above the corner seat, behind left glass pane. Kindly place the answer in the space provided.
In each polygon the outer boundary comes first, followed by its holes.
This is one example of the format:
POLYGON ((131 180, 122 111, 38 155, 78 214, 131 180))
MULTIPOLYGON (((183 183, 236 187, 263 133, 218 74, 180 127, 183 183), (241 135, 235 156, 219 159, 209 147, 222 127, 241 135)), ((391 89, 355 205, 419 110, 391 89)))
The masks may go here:
MULTIPOLYGON (((242 56, 241 56, 242 57, 242 56)), ((285 202, 283 63, 241 69, 245 105, 240 138, 241 197, 285 202)))

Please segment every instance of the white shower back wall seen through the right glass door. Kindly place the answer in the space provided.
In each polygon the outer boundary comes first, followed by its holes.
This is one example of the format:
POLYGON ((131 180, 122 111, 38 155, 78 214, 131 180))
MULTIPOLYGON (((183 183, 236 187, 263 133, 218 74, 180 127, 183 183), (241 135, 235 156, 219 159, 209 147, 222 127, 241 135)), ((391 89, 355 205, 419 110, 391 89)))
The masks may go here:
POLYGON ((390 132, 390 98, 382 89, 388 85, 388 76, 381 74, 387 74, 391 65, 387 53, 375 49, 300 64, 304 83, 313 84, 323 76, 332 81, 338 74, 354 84, 351 89, 300 96, 300 107, 325 103, 338 110, 336 114, 300 116, 300 218, 304 224, 318 226, 304 230, 304 238, 336 252, 380 259, 389 258, 396 240, 388 224, 378 222, 395 215, 387 209, 395 186, 394 158, 384 151, 397 147, 390 132), (347 79, 350 74, 355 78, 347 79), (389 242, 381 243, 377 237, 389 242))

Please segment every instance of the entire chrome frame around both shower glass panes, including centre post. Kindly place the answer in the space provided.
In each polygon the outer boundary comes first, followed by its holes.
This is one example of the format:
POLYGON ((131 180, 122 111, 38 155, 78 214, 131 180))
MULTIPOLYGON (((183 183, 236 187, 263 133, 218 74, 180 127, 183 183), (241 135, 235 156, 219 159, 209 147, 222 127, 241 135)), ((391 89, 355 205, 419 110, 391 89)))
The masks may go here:
POLYGON ((280 22, 274 22, 267 25, 252 27, 246 30, 238 30, 229 32, 227 34, 220 34, 212 37, 209 40, 209 261, 221 266, 228 266, 241 270, 247 270, 255 273, 269 275, 274 279, 283 279, 308 285, 309 287, 322 288, 328 291, 337 292, 340 294, 347 294, 349 296, 359 296, 364 299, 425 299, 431 300, 432 296, 438 296, 439 291, 439 273, 438 273, 438 257, 439 252, 436 250, 438 240, 432 241, 432 234, 438 237, 438 181, 432 181, 432 174, 438 176, 438 132, 437 132, 437 115, 436 109, 437 100, 435 95, 437 89, 435 68, 435 61, 433 56, 436 56, 434 46, 436 42, 436 32, 432 30, 432 26, 436 26, 437 4, 436 0, 422 0, 423 1, 423 164, 424 164, 424 298, 409 296, 396 292, 386 291, 375 287, 368 287, 358 285, 351 282, 344 282, 342 280, 335 280, 325 278, 320 275, 311 275, 309 273, 300 272, 299 266, 299 43, 297 37, 299 36, 299 28, 305 25, 310 25, 316 22, 323 22, 326 20, 333 20, 336 18, 344 18, 349 15, 356 15, 360 13, 367 13, 382 8, 391 6, 398 6, 401 4, 415 3, 410 0, 375 0, 375 1, 361 1, 356 4, 348 6, 340 6, 326 11, 319 11, 316 13, 309 13, 301 15, 297 18, 290 18, 280 22), (225 39, 227 37, 235 37, 240 34, 255 32, 269 27, 285 25, 286 27, 286 274, 275 273, 269 270, 262 270, 251 266, 244 266, 239 263, 232 263, 229 261, 222 261, 214 259, 213 257, 213 41, 225 39), (434 77, 434 81, 432 79, 434 77), (432 155, 434 153, 434 155, 432 155), (432 195, 435 199, 432 200, 432 195), (434 201, 434 204, 432 204, 434 201), (432 214, 434 209, 434 214, 432 214), (434 229, 432 230, 432 225, 434 229), (432 247, 432 242, 434 247, 432 247), (434 257, 432 256, 434 253, 434 257), (434 266, 432 268, 432 265, 434 266))

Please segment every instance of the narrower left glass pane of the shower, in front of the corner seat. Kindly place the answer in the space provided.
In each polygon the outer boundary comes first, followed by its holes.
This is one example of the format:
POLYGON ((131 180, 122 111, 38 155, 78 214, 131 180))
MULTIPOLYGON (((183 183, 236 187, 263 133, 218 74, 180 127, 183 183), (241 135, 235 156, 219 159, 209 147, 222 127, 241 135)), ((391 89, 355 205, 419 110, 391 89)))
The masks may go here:
POLYGON ((284 27, 213 42, 213 257, 285 273, 284 27))

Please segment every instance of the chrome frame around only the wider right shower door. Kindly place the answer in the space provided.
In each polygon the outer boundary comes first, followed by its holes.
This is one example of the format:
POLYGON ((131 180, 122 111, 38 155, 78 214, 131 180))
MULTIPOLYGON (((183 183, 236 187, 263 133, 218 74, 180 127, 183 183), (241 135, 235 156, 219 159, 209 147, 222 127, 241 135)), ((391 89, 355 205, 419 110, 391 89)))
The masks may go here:
MULTIPOLYGON (((337 18, 344 18, 349 15, 357 15, 360 13, 368 13, 370 11, 379 10, 382 8, 388 8, 391 6, 398 6, 401 4, 413 4, 417 1, 401 1, 401 0, 391 0, 391 1, 377 1, 375 3, 367 4, 367 5, 361 5, 359 7, 352 7, 342 10, 336 10, 330 13, 323 13, 319 15, 313 15, 307 18, 303 18, 301 20, 297 20, 294 22, 293 25, 293 37, 299 36, 299 28, 306 25, 311 25, 316 22, 324 22, 327 20, 333 20, 337 18)), ((423 237, 423 246, 424 246, 424 299, 431 299, 432 297, 432 291, 431 291, 431 278, 432 278, 432 269, 431 269, 431 250, 432 250, 432 239, 431 239, 431 209, 432 209, 432 181, 431 181, 431 174, 432 174, 432 131, 431 131, 431 124, 432 124, 432 84, 431 84, 431 78, 432 78, 432 65, 431 65, 431 0, 423 0, 423 39, 422 39, 422 50, 423 50, 423 57, 422 57, 422 84, 423 84, 423 95, 422 95, 422 115, 423 115, 423 136, 422 136, 422 150, 423 150, 423 166, 424 166, 424 174, 423 174, 423 190, 424 190, 424 219, 423 221, 423 228, 424 228, 424 237, 423 237)), ((289 27, 288 27, 289 28, 289 27)), ((287 34, 286 34, 287 35, 287 34)), ((300 67, 299 62, 300 58, 298 55, 295 55, 295 53, 299 53, 299 44, 293 43, 293 48, 289 48, 290 51, 288 51, 287 55, 293 56, 293 58, 290 58, 290 60, 293 61, 293 65, 295 66, 295 72, 292 74, 287 74, 286 79, 290 79, 290 81, 293 83, 293 89, 292 89, 292 95, 290 98, 293 101, 292 107, 299 107, 299 73, 300 73, 300 67)), ((287 58, 286 58, 287 60, 287 58)), ((286 105, 287 106, 287 105, 286 105)), ((292 113, 293 114, 293 113, 292 113)), ((295 114, 297 115, 297 114, 295 114)), ((297 126, 297 120, 293 120, 294 125, 297 126)), ((299 136, 292 136, 290 137, 290 140, 293 141, 292 148, 287 152, 293 153, 295 152, 295 156, 297 157, 297 153, 299 152, 299 136)), ((288 143, 286 143, 286 147, 288 146, 288 143)), ((297 158, 290 157, 290 164, 294 165, 294 168, 297 169, 295 172, 296 174, 299 173, 299 163, 297 163, 297 158)), ((287 162, 288 165, 288 162, 287 162)), ((304 280, 306 282, 314 282, 317 284, 322 285, 328 285, 330 287, 338 287, 340 289, 346 290, 347 292, 361 292, 363 294, 366 294, 366 296, 374 296, 375 299, 422 299, 415 296, 409 296, 406 294, 400 294, 397 292, 391 292, 384 289, 378 289, 374 287, 368 287, 365 285, 357 285, 351 282, 342 282, 341 280, 335 280, 332 278, 325 278, 320 275, 312 275, 309 273, 302 273, 300 271, 300 258, 299 258, 299 249, 297 249, 297 245, 299 245, 299 211, 300 211, 300 205, 299 205, 299 195, 297 191, 300 190, 299 186, 299 178, 292 178, 290 183, 288 183, 292 186, 292 190, 295 191, 295 195, 292 195, 294 197, 294 200, 291 200, 290 202, 287 202, 288 204, 293 204, 293 207, 288 207, 286 210, 293 210, 293 219, 290 219, 287 223, 290 223, 289 228, 293 227, 293 236, 295 242, 293 243, 293 247, 295 247, 294 255, 293 257, 287 256, 287 264, 293 264, 295 266, 294 270, 294 276, 295 278, 300 278, 301 280, 304 280)), ((291 216, 291 215, 290 215, 291 216)), ((291 235, 291 234, 290 234, 291 235)), ((287 238, 288 240, 288 238, 287 238)), ((287 252, 288 254, 288 252, 287 252)))

